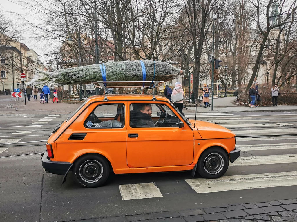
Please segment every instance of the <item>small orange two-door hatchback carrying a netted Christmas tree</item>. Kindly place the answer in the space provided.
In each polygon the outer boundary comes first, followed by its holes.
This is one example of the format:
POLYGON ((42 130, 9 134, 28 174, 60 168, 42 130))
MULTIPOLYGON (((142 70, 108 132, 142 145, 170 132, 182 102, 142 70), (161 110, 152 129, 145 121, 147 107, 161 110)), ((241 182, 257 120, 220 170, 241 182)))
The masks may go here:
POLYGON ((188 120, 162 96, 91 96, 48 139, 42 166, 72 170, 84 187, 101 186, 110 172, 192 170, 218 178, 240 156, 235 134, 216 124, 188 120))

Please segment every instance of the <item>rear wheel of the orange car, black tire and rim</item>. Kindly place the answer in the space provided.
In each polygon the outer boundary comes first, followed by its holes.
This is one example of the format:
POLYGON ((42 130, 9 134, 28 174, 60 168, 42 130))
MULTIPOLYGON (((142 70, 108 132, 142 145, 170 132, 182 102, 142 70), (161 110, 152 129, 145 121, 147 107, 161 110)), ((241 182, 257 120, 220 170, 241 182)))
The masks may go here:
POLYGON ((96 154, 87 154, 75 161, 72 176, 76 183, 83 187, 102 186, 109 176, 107 160, 96 154))

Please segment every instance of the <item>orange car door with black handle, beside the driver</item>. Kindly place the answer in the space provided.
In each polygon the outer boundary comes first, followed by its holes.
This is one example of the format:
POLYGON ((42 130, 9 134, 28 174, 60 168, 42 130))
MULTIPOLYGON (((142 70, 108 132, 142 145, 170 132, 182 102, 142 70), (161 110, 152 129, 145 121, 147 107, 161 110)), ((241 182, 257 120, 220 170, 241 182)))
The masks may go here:
POLYGON ((148 113, 154 123, 160 118, 158 112, 159 114, 162 113, 162 109, 167 110, 168 116, 170 116, 169 124, 156 127, 150 123, 142 126, 135 123, 136 120, 133 120, 133 115, 139 113, 139 110, 133 109, 135 105, 135 102, 128 102, 127 105, 129 110, 126 133, 128 167, 162 167, 191 164, 194 155, 193 131, 182 118, 178 118, 178 112, 174 110, 172 105, 165 102, 151 102, 151 110, 148 113), (183 128, 178 128, 179 121, 184 122, 183 128))

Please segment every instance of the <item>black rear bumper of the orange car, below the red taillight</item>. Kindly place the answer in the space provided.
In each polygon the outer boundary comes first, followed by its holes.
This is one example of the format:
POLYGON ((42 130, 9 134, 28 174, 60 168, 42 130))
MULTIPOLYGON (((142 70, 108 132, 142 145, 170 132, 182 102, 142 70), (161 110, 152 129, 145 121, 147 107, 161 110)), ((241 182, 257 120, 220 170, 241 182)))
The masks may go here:
POLYGON ((59 162, 59 161, 52 161, 48 159, 48 153, 42 155, 42 167, 49 173, 65 175, 69 168, 72 167, 72 163, 69 162, 59 162))

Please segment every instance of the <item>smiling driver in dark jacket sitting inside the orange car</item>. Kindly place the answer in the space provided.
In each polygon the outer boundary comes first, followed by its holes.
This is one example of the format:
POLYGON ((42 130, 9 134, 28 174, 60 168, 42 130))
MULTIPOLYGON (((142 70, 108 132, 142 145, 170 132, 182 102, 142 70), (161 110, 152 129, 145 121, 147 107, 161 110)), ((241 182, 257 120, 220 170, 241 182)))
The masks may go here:
MULTIPOLYGON (((151 104, 138 104, 138 112, 133 112, 131 122, 135 127, 155 127, 154 122, 151 118, 152 107, 151 104)), ((134 107, 133 107, 134 108, 134 107)))

